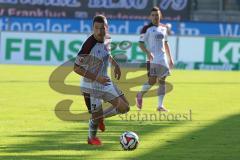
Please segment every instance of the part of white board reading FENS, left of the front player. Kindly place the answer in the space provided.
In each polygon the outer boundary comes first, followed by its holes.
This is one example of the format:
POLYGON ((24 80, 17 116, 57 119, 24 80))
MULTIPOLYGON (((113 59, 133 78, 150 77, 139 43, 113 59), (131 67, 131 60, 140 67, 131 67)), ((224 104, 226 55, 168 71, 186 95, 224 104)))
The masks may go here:
POLYGON ((2 32, 0 62, 57 65, 76 56, 85 34, 2 32))

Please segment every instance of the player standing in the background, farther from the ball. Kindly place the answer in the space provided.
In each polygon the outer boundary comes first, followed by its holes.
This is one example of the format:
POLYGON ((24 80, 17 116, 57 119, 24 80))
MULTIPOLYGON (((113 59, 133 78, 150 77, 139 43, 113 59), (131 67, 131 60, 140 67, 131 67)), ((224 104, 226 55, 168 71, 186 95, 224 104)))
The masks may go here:
POLYGON ((158 7, 153 7, 150 14, 151 23, 144 26, 139 40, 139 47, 147 54, 148 82, 142 86, 137 94, 136 103, 142 109, 142 97, 157 82, 158 88, 158 111, 168 111, 163 105, 166 92, 166 77, 170 74, 174 62, 167 40, 167 27, 160 23, 162 13, 158 7))

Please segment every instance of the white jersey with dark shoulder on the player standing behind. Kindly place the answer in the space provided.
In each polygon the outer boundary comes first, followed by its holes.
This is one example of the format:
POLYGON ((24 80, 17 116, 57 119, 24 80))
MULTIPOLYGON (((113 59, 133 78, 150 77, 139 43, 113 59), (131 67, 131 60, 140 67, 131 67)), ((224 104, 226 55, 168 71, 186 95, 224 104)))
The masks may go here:
POLYGON ((141 31, 139 42, 144 42, 146 48, 153 53, 152 63, 160 63, 166 59, 164 43, 167 40, 167 28, 164 24, 158 26, 152 23, 145 25, 141 31))

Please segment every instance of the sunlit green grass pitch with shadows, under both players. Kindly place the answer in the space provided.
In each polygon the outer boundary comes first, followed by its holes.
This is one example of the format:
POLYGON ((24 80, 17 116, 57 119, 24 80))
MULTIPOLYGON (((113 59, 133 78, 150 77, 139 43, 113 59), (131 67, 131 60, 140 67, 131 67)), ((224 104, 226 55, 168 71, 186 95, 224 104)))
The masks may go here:
MULTIPOLYGON (((174 70, 168 78, 173 90, 165 98, 169 119, 136 118, 157 114, 157 98, 148 96, 141 112, 131 106, 127 118, 107 119, 106 131, 98 134, 104 145, 93 147, 86 144, 87 121, 63 121, 55 115, 63 99, 73 100, 72 113, 86 111, 82 96, 49 87, 55 68, 0 65, 0 159, 240 159, 240 72, 174 70), (183 118, 190 110, 191 119, 183 118), (182 117, 174 119, 176 115, 182 117), (119 145, 120 134, 127 130, 139 135, 134 151, 119 145)), ((71 73, 66 83, 77 86, 78 81, 71 73)), ((139 85, 129 89, 129 94, 138 89, 139 85)), ((134 100, 133 94, 125 95, 134 100)))

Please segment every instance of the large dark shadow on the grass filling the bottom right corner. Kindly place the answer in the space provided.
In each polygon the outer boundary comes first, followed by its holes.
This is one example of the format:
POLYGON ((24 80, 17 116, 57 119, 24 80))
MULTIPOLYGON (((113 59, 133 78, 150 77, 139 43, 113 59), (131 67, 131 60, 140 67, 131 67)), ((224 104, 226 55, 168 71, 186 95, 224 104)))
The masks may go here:
POLYGON ((237 160, 240 159, 240 114, 219 120, 136 159, 237 160))

